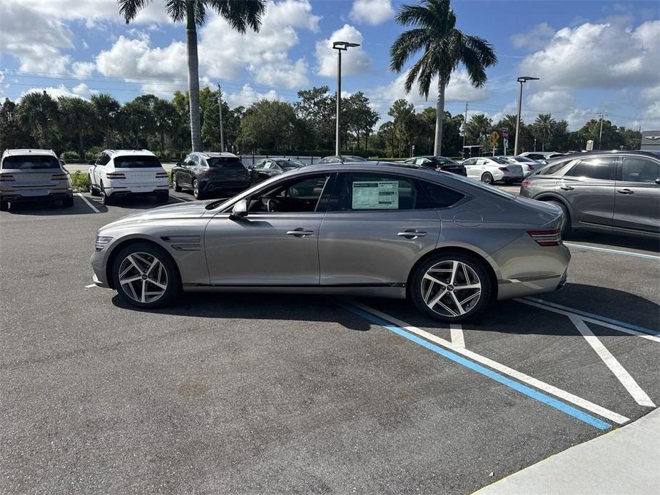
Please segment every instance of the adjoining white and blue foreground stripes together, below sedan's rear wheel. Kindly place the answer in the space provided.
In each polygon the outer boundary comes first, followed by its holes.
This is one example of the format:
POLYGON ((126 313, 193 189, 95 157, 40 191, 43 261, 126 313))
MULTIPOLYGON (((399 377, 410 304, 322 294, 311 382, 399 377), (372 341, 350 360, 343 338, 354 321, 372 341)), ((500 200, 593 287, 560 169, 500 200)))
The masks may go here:
MULTIPOLYGON (((460 356, 456 356, 451 352, 442 351, 442 349, 440 349, 442 352, 438 352, 436 349, 430 349, 434 352, 437 352, 437 354, 441 354, 445 357, 448 357, 449 359, 452 359, 452 361, 459 362, 460 364, 463 364, 464 366, 467 366, 470 369, 474 369, 474 371, 485 374, 487 377, 497 380, 497 382, 507 385, 508 387, 512 387, 516 389, 518 392, 522 392, 523 394, 527 395, 528 397, 532 397, 534 399, 540 400, 541 402, 544 402, 544 404, 548 404, 551 407, 559 409, 562 412, 566 412, 567 414, 570 414, 573 417, 576 417, 584 422, 592 424, 596 428, 607 429, 610 427, 610 425, 607 424, 606 422, 601 421, 596 417, 593 417, 590 414, 586 414, 580 411, 579 409, 575 409, 574 407, 571 407, 568 404, 564 404, 564 402, 558 401, 557 399, 549 397, 546 394, 537 392, 536 390, 531 389, 526 385, 519 384, 518 382, 514 382, 511 379, 503 377, 502 374, 508 375, 509 377, 519 380, 519 382, 523 382, 527 385, 530 385, 531 387, 535 387, 536 389, 542 390, 547 394, 554 395, 554 397, 559 397, 559 399, 563 399, 566 402, 570 402, 576 405, 577 407, 585 409, 594 414, 598 414, 600 417, 609 419, 610 421, 615 422, 617 424, 624 424, 630 421, 629 418, 622 416, 621 414, 618 414, 616 412, 610 411, 609 409, 599 406, 598 404, 594 404, 593 402, 590 402, 587 399, 582 399, 582 397, 578 397, 577 395, 567 392, 566 390, 559 389, 557 387, 554 387, 554 385, 542 382, 541 380, 536 379, 534 377, 530 377, 527 374, 519 372, 516 369, 510 368, 505 364, 501 364, 499 362, 493 361, 492 359, 482 356, 481 354, 477 354, 476 352, 472 352, 468 349, 457 347, 448 340, 442 339, 441 337, 437 337, 436 335, 433 335, 430 332, 426 332, 425 330, 422 330, 420 328, 413 327, 412 325, 409 325, 408 323, 403 322, 402 320, 398 320, 396 317, 387 315, 383 312, 380 312, 379 310, 375 310, 372 307, 362 305, 360 302, 350 301, 345 304, 345 307, 347 310, 355 312, 357 315, 365 317, 367 320, 375 322, 377 323, 377 325, 381 325, 382 327, 387 328, 387 330, 391 330, 392 332, 395 332, 398 335, 401 335, 402 337, 405 337, 408 340, 412 340, 413 342, 416 342, 424 347, 429 348, 428 347, 429 345, 432 346, 432 344, 429 344, 429 342, 427 342, 427 340, 429 340, 437 345, 445 347, 446 349, 450 349, 452 352, 455 352, 456 354, 462 354, 462 356, 472 359, 472 361, 468 361, 467 359, 464 359, 460 356), (422 340, 417 336, 423 337, 425 340, 422 340), (452 356, 447 354, 452 354, 452 356), (467 361, 469 365, 459 361, 458 359, 464 359, 464 361, 467 361), (474 364, 474 362, 484 364, 485 366, 496 370, 497 372, 499 372, 499 374, 492 372, 490 369, 479 367, 479 364, 474 364), (476 367, 479 367, 479 369, 477 369, 476 367), (513 386, 512 384, 515 384, 515 386, 513 386), (541 398, 537 396, 541 396, 541 398)), ((433 347, 437 347, 437 346, 433 346, 433 347)))

